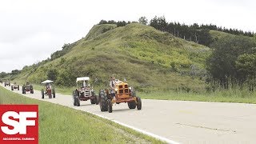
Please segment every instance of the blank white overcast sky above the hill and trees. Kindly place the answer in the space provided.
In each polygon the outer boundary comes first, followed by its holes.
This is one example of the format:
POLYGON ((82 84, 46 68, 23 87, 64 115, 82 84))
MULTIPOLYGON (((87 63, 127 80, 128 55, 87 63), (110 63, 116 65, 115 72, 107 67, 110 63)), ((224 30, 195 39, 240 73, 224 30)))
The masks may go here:
POLYGON ((256 32, 254 0, 0 0, 0 72, 49 58, 101 19, 216 24, 256 32))

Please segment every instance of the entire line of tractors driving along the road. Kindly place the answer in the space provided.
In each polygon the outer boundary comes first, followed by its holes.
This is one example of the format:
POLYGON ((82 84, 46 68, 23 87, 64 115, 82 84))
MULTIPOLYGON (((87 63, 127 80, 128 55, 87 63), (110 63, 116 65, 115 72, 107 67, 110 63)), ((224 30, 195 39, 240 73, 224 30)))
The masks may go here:
MULTIPOLYGON (((0 82, 3 81, 0 80, 0 82)), ((48 98, 56 98, 53 82, 51 80, 42 82, 45 86, 45 89, 41 90, 42 98, 46 96, 48 98)), ((91 104, 99 105, 102 112, 108 111, 112 113, 114 104, 120 103, 127 103, 129 109, 137 107, 138 110, 142 110, 142 99, 136 95, 134 88, 128 85, 126 79, 124 82, 115 79, 111 89, 99 90, 98 94, 94 91, 95 82, 97 82, 97 79, 91 86, 89 77, 77 78, 77 89, 72 94, 74 106, 81 106, 82 101, 90 100, 91 104)), ((16 82, 11 85, 9 80, 4 81, 4 86, 10 86, 11 90, 20 90, 20 86, 16 82)), ((26 93, 34 94, 34 87, 29 82, 22 86, 22 94, 26 93)))

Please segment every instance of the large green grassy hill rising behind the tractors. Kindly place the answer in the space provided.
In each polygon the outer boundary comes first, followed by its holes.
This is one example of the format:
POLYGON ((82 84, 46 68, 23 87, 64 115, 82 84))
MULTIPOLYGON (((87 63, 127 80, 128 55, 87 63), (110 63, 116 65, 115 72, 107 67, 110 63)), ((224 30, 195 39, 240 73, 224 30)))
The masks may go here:
POLYGON ((49 70, 56 84, 74 86, 75 78, 98 78, 106 86, 110 75, 127 78, 139 90, 202 90, 210 48, 187 42, 153 27, 95 25, 85 38, 59 58, 27 66, 14 81, 40 83, 49 70))

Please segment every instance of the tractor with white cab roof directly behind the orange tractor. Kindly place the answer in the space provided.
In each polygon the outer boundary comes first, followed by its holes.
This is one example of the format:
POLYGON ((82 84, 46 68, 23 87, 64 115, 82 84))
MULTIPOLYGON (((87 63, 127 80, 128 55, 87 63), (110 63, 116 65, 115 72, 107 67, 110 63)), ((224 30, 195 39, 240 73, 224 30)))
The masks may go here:
MULTIPOLYGON (((76 90, 73 91, 73 98, 74 98, 74 106, 80 106, 80 101, 87 101, 90 100, 91 104, 98 105, 98 96, 94 92, 94 87, 90 86, 90 78, 89 77, 82 77, 77 78, 77 86, 76 90)), ((95 82, 97 79, 95 80, 95 82)))

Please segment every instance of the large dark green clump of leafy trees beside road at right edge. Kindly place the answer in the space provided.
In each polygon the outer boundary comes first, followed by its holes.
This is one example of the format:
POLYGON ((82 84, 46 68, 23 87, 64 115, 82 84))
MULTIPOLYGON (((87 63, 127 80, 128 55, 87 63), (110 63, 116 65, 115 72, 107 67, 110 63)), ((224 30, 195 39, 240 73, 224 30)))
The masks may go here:
POLYGON ((246 86, 250 91, 254 91, 255 39, 241 35, 226 36, 211 44, 211 47, 214 50, 206 60, 206 70, 211 74, 207 81, 212 84, 213 90, 216 90, 216 86, 222 89, 246 86))

